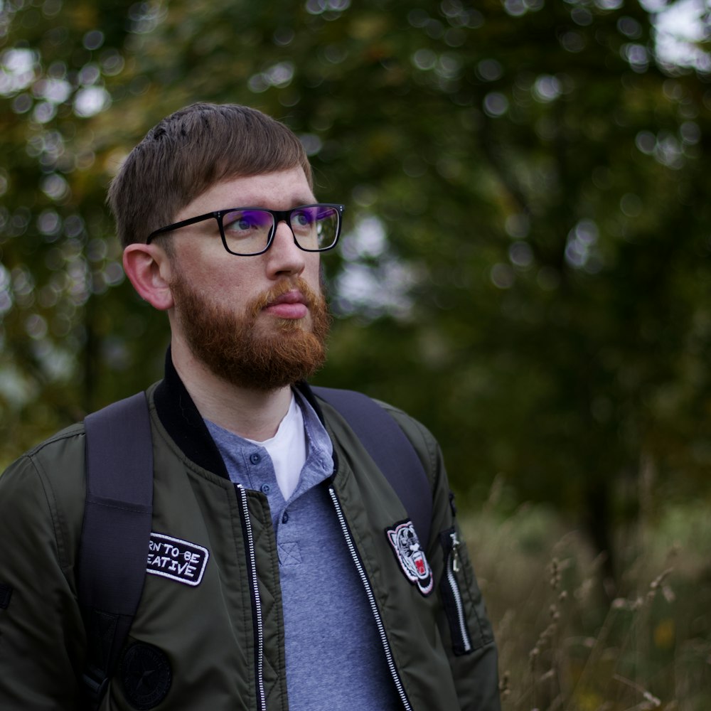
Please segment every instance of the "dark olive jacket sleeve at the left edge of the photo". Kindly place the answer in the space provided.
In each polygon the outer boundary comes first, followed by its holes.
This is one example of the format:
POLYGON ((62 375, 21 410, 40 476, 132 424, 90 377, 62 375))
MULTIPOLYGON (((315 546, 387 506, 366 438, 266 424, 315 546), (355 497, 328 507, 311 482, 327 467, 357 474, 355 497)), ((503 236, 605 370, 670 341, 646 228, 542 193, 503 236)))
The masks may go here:
POLYGON ((42 463, 0 476, 0 708, 75 710, 84 645, 64 512, 42 463))

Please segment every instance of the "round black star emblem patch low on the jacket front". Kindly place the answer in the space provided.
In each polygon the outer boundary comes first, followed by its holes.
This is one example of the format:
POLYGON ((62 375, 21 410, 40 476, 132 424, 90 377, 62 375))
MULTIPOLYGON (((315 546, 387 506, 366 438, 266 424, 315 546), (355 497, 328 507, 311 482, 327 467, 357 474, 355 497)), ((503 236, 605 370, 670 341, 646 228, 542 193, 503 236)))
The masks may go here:
POLYGON ((158 647, 137 642, 121 661, 124 696, 134 709, 152 709, 164 700, 171 688, 171 664, 158 647))

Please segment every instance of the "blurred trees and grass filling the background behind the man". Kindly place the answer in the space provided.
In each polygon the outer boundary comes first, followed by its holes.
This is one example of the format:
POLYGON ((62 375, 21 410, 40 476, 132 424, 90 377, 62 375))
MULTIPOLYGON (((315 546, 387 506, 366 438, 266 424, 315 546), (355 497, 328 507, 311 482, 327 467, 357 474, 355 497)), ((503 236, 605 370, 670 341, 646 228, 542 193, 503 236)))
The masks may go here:
POLYGON ((506 709, 711 707, 708 0, 0 0, 0 464, 161 377, 105 207, 205 100, 347 205, 316 381, 445 452, 506 709))

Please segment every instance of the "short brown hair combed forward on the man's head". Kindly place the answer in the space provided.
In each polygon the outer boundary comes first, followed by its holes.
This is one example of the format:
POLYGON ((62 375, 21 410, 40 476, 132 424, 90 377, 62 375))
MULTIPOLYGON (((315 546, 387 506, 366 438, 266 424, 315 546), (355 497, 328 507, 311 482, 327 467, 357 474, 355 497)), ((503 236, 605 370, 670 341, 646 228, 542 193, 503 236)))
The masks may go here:
MULTIPOLYGON (((313 188, 301 141, 257 109, 236 104, 187 106, 152 128, 113 179, 108 203, 119 240, 123 247, 145 242, 216 183, 298 166, 313 188)), ((230 206, 235 205, 225 205, 230 206)))

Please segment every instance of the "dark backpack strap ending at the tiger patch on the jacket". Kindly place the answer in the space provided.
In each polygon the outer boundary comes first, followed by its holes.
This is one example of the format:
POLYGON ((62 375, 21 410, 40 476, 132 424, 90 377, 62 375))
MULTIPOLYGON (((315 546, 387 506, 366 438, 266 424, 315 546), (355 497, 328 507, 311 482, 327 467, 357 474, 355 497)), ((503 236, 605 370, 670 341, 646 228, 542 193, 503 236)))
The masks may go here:
POLYGON ((417 538, 426 547, 432 521, 432 486, 422 461, 400 425, 368 395, 354 390, 311 387, 343 415, 363 447, 400 497, 417 538))

